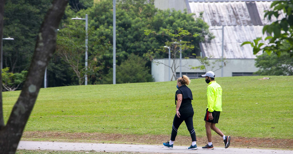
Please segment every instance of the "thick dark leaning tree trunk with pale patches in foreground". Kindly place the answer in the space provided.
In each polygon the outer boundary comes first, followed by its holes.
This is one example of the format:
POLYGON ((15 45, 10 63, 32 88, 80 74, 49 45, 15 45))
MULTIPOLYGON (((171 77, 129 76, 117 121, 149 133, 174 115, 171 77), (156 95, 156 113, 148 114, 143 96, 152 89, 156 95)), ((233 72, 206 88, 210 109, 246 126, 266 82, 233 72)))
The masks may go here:
POLYGON ((8 122, 0 130, 0 153, 14 154, 33 109, 44 78, 45 68, 56 50, 57 28, 69 0, 54 0, 40 28, 32 62, 22 91, 8 122))

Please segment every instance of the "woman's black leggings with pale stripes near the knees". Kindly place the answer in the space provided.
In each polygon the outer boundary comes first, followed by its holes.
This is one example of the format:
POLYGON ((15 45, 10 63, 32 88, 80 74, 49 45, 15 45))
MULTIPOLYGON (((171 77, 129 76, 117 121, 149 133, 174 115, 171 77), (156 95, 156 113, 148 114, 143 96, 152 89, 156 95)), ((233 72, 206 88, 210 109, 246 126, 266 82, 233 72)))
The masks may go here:
POLYGON ((174 120, 173 120, 173 125, 172 125, 172 133, 171 133, 171 141, 175 141, 175 138, 177 136, 177 131, 179 126, 183 121, 185 121, 185 124, 187 126, 187 129, 190 133, 192 141, 196 141, 196 136, 195 136, 195 130, 193 128, 193 114, 186 114, 186 115, 181 115, 180 118, 178 118, 175 114, 174 120))

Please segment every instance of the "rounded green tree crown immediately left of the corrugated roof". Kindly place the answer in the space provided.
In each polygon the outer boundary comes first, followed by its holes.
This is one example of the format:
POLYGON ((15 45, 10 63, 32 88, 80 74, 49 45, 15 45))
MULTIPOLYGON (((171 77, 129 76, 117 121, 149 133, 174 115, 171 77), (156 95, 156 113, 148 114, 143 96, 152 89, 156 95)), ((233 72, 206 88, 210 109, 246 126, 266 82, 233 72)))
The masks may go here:
MULTIPOLYGON (((151 30, 162 32, 164 29, 171 30, 171 33, 176 33, 179 28, 187 30, 191 34, 198 34, 197 37, 185 37, 183 41, 190 41, 194 48, 192 50, 186 50, 183 52, 183 57, 191 57, 193 54, 199 54, 199 43, 205 40, 205 37, 210 40, 214 38, 211 32, 209 32, 209 26, 202 19, 202 13, 200 17, 194 19, 193 13, 176 11, 174 9, 158 10, 150 24, 151 30)), ((160 46, 165 42, 165 38, 157 36, 156 40, 160 43, 160 46)))

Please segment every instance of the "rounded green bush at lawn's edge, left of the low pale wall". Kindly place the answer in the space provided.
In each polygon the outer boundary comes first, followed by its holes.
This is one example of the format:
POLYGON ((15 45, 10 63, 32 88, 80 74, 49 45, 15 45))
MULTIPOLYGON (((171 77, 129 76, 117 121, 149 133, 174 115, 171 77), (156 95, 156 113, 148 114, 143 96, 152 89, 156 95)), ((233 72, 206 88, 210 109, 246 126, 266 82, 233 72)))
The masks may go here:
MULTIPOLYGON (((149 69, 145 67, 146 63, 147 61, 142 57, 130 54, 127 60, 116 67, 116 83, 154 82, 149 69)), ((113 69, 110 69, 110 73, 103 78, 102 83, 113 83, 113 69)))

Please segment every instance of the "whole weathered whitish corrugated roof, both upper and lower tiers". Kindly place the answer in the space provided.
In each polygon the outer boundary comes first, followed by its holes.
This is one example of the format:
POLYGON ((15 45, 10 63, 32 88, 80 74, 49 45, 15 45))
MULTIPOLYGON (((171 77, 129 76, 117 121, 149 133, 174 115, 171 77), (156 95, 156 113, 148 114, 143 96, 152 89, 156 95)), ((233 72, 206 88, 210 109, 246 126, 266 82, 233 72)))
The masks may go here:
MULTIPOLYGON (((195 13, 195 18, 200 17, 203 12, 203 20, 210 26, 224 25, 224 57, 225 58, 256 58, 250 45, 241 44, 245 41, 253 41, 263 35, 263 25, 272 21, 264 18, 264 10, 270 10, 272 1, 204 1, 189 0, 191 13, 195 13)), ((283 18, 282 14, 279 18, 283 18)), ((211 30, 215 39, 200 44, 203 55, 213 58, 222 57, 222 30, 211 30)))

